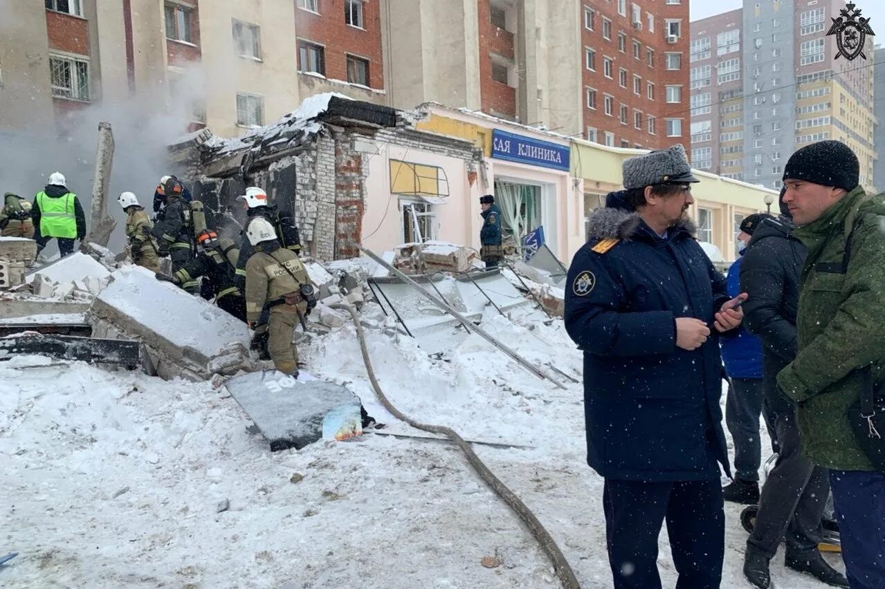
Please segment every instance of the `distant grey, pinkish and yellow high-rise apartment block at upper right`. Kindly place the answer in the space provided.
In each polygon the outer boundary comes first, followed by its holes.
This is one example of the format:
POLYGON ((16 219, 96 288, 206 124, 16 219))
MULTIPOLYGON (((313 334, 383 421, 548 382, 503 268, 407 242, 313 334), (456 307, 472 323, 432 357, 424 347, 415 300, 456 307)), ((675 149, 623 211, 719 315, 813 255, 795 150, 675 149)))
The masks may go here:
POLYGON ((827 30, 843 8, 835 0, 745 0, 741 10, 691 23, 693 164, 776 189, 795 149, 836 139, 858 154, 861 183, 873 187, 872 39, 868 61, 836 57, 827 30), (707 73, 716 88, 709 97, 696 82, 707 73), (717 124, 708 140, 702 131, 717 124))

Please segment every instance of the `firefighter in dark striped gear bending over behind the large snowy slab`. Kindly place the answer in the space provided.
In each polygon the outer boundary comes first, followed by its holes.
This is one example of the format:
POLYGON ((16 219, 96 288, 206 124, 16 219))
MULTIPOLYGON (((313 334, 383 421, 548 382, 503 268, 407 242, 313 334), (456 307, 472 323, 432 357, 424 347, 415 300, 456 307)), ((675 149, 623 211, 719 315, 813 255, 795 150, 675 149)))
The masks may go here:
POLYGON ((175 272, 173 276, 157 274, 158 280, 167 280, 181 286, 203 278, 201 294, 207 301, 214 298, 219 309, 225 310, 246 323, 246 300, 236 286, 235 268, 240 250, 233 240, 219 240, 212 229, 204 229, 196 237, 200 249, 193 262, 175 272))

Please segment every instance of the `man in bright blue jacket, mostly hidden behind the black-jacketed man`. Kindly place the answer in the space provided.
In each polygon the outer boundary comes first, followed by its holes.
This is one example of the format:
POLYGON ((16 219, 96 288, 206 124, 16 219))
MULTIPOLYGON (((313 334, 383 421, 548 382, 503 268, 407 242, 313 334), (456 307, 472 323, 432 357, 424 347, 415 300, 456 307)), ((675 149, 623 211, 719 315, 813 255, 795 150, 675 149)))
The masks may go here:
MULTIPOLYGON (((727 293, 741 293, 741 263, 756 227, 766 218, 765 213, 749 215, 741 221, 739 257, 728 268, 727 293)), ((774 440, 772 420, 763 411, 766 397, 762 380, 762 342, 750 335, 742 325, 733 338, 722 340, 722 363, 730 379, 725 403, 725 423, 735 441, 735 480, 722 491, 726 501, 756 505, 759 502, 759 464, 762 462, 762 443, 759 437, 759 415, 765 415, 766 427, 774 440)))

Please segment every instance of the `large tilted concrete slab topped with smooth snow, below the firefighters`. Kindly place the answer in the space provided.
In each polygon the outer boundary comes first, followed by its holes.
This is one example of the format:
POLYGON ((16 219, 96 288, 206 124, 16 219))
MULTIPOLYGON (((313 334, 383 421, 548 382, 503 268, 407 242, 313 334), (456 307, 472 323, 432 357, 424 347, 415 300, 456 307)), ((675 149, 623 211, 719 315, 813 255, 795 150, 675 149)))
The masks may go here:
POLYGON ((96 337, 141 340, 164 379, 210 379, 254 368, 246 324, 138 266, 113 273, 89 309, 96 337))

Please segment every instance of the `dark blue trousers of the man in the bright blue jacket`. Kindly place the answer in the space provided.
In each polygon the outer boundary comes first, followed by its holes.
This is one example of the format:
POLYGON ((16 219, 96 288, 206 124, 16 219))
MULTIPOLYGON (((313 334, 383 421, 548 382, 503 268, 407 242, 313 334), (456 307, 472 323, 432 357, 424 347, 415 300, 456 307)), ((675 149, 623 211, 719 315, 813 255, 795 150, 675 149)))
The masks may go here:
POLYGON ((762 379, 731 379, 725 403, 725 423, 735 441, 735 477, 758 481, 762 463, 759 415, 766 421, 772 447, 776 434, 765 407, 765 382, 762 379))

